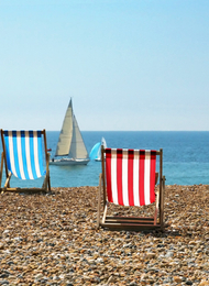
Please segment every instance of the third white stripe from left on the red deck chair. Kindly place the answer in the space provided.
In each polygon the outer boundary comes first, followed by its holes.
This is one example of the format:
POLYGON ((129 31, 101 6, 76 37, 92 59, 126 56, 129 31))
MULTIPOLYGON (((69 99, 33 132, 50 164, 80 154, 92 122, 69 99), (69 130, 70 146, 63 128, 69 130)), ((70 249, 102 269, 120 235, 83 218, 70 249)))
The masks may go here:
POLYGON ((133 157, 133 201, 134 206, 140 206, 140 194, 139 194, 139 174, 140 174, 140 157, 139 151, 134 150, 133 157))

